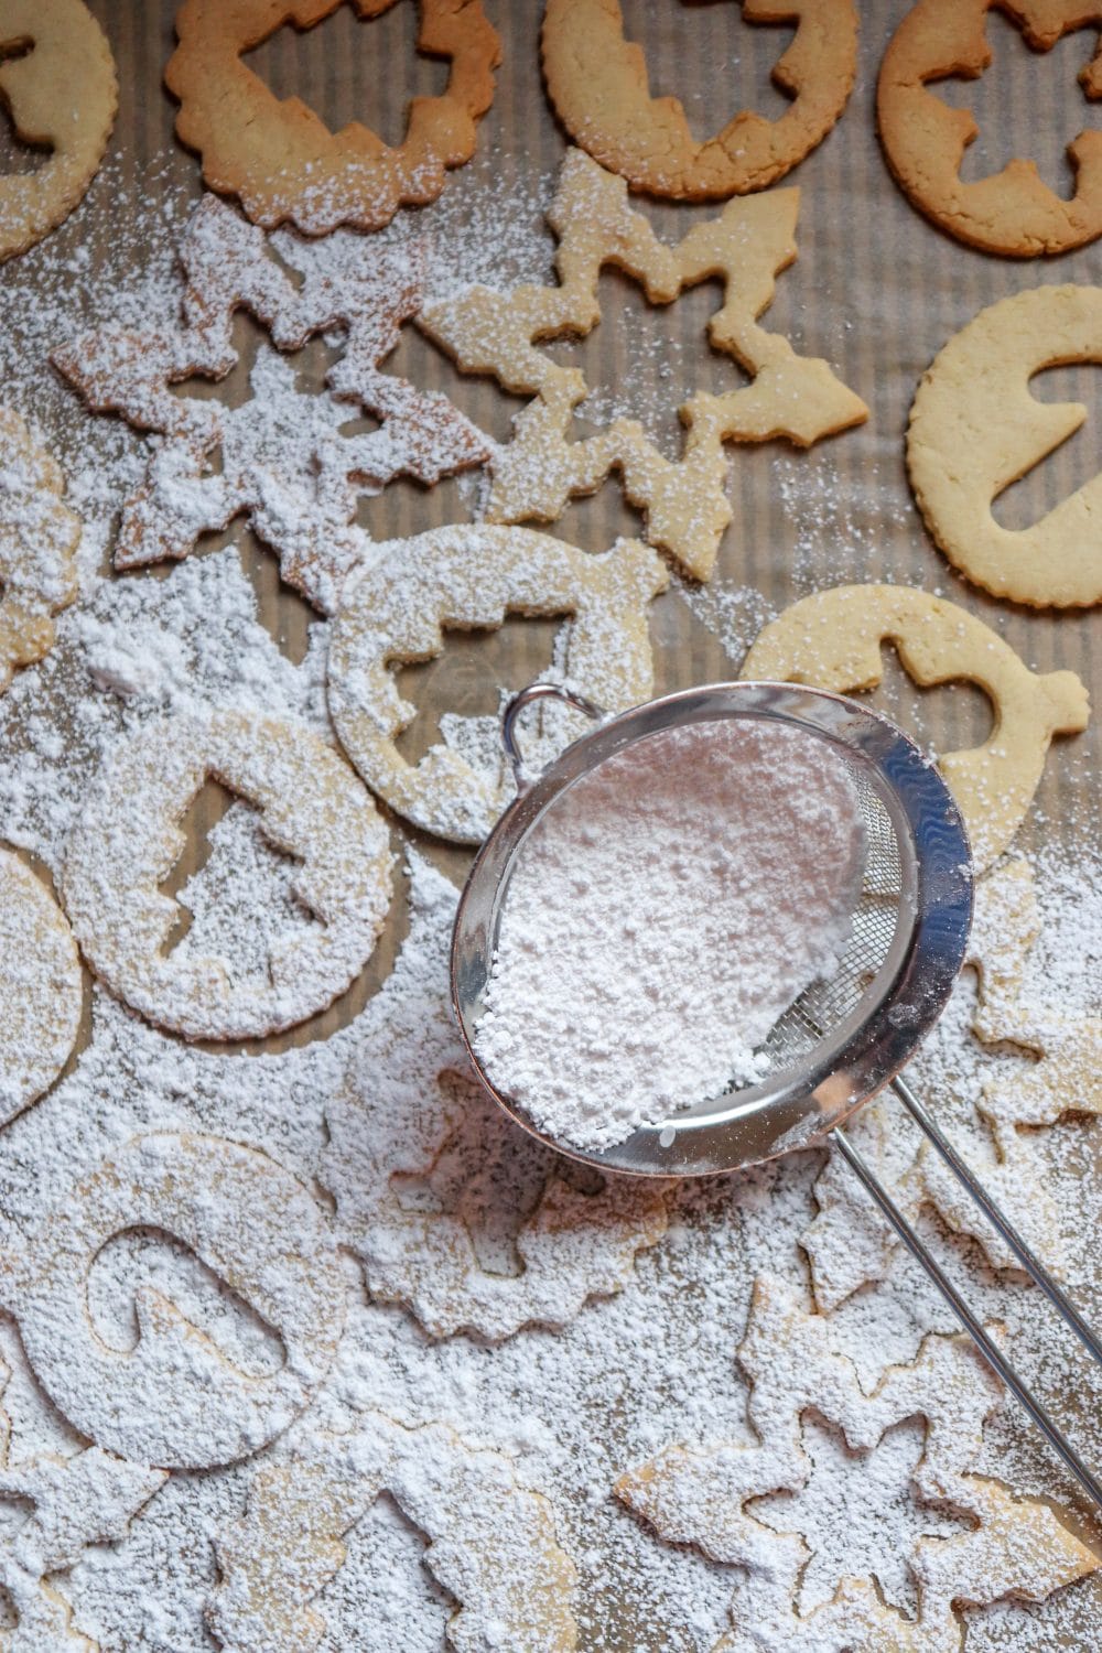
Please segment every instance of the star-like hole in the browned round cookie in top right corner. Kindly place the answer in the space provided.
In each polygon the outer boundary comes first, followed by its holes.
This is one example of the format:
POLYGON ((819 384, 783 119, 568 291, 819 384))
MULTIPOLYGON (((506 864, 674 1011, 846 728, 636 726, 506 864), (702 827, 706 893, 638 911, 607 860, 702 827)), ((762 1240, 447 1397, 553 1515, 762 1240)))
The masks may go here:
POLYGON ((1094 124, 1094 106, 1084 98, 1077 74, 1090 61, 1097 31, 1079 28, 1061 36, 1049 51, 1026 45, 1013 17, 991 10, 986 40, 991 63, 978 79, 950 76, 927 84, 942 102, 968 109, 980 136, 965 149, 960 167, 963 183, 995 177, 1023 154, 1023 109, 1029 117, 1029 159, 1041 179, 1064 200, 1076 193, 1076 169, 1067 145, 1094 124))

